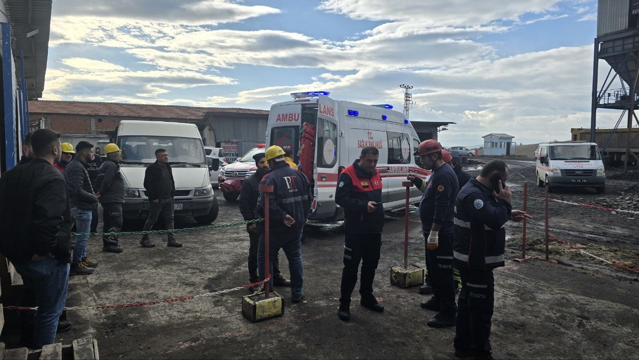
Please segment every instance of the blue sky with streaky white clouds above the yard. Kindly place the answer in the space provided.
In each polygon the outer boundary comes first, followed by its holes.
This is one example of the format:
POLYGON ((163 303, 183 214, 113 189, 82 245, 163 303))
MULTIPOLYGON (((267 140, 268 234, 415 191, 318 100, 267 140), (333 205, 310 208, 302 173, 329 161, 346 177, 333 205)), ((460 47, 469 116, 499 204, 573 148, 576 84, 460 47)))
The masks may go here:
MULTIPOLYGON (((589 127, 596 0, 56 0, 42 100, 269 109, 295 91, 450 121, 444 146, 589 127)), ((599 66, 600 79, 607 65, 599 66)), ((613 127, 618 114, 599 125, 613 127)))

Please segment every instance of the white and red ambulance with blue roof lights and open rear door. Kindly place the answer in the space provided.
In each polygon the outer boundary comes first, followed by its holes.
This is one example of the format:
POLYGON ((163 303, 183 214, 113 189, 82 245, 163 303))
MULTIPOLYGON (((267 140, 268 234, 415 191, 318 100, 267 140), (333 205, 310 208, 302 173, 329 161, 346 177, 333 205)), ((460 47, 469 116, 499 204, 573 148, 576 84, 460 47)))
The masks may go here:
MULTIPOLYGON (((424 180, 430 176, 413 155, 420 141, 410 121, 387 104, 357 104, 328 95, 327 91, 291 93, 293 100, 273 104, 268 115, 266 144, 289 148, 313 186, 309 219, 343 219, 343 208, 335 203, 337 176, 359 159, 366 146, 380 151, 377 170, 383 184, 384 209, 404 208, 406 188, 402 182, 406 176, 413 174, 424 180)), ((410 203, 419 203, 421 196, 411 187, 410 203)))

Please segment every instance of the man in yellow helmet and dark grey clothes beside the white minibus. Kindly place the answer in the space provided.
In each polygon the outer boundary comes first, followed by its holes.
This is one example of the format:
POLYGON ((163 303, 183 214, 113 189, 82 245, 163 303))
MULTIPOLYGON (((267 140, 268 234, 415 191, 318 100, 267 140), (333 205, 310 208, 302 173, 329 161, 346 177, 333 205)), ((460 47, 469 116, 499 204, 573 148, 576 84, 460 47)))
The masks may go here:
MULTIPOLYGON (((98 195, 102 204, 102 232, 119 233, 122 230, 122 203, 124 203, 124 178, 119 169, 121 151, 118 145, 104 146, 107 160, 98 170, 98 195)), ((121 253, 118 235, 102 235, 102 251, 121 253)))

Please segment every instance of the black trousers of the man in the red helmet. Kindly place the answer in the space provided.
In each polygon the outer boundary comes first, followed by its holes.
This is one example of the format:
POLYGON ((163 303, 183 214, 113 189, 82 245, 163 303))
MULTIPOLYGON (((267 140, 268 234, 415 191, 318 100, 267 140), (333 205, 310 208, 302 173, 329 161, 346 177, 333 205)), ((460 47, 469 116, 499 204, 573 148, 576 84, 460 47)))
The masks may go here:
MULTIPOLYGON (((428 235, 424 234, 424 238, 428 235)), ((426 244, 426 239, 424 239, 426 244)), ((452 235, 440 235, 439 246, 435 250, 426 247, 426 269, 433 286, 433 295, 440 304, 440 312, 454 316, 457 311, 455 304, 455 280, 452 269, 452 235)))

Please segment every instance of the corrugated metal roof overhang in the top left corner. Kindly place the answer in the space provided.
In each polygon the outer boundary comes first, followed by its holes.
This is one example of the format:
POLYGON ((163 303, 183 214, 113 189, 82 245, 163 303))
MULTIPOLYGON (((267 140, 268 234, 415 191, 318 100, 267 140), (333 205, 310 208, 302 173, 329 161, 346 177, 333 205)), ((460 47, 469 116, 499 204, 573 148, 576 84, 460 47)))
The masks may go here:
MULTIPOLYGON (((20 50, 24 55, 28 97, 41 98, 49 56, 51 0, 4 0, 4 6, 11 21, 13 53, 17 59, 20 50), (38 33, 27 38, 27 33, 35 29, 38 29, 38 33)), ((19 60, 16 61, 16 68, 19 71, 19 60)))

